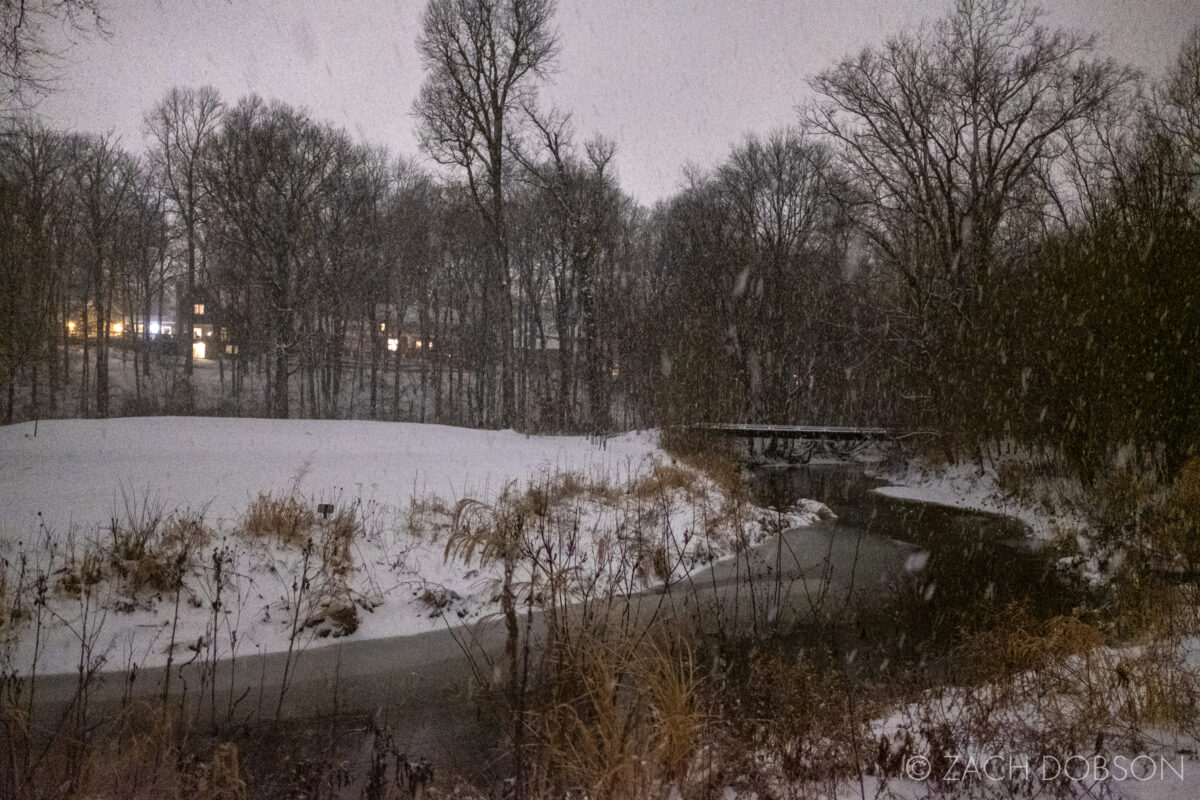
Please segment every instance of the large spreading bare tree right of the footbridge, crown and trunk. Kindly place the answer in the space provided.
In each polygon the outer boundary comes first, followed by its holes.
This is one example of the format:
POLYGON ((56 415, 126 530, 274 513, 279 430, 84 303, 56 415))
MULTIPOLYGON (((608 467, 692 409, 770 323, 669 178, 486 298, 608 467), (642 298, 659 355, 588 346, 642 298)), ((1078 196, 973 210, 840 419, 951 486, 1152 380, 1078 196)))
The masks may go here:
POLYGON ((1073 133, 1134 78, 1093 50, 1022 0, 956 0, 811 82, 805 118, 840 145, 846 199, 894 278, 881 299, 917 413, 980 407, 978 309, 1039 234, 1073 133))

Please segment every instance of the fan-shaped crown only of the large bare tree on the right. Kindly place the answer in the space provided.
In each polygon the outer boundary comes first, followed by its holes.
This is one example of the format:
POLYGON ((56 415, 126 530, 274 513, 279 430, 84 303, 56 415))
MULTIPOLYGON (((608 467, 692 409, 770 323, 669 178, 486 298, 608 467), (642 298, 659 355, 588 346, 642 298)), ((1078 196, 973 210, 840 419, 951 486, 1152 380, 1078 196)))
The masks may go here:
POLYGON ((997 266, 1006 223, 1039 201, 1027 184, 1132 80, 1093 49, 1020 0, 958 0, 812 79, 823 102, 806 119, 842 146, 858 216, 914 309, 960 301, 997 266))

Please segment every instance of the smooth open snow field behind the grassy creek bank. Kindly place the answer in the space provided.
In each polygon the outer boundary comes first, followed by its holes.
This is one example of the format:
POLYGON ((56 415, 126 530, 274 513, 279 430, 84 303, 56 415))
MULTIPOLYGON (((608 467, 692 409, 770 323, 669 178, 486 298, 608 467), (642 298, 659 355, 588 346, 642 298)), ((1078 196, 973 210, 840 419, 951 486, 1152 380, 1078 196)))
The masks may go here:
POLYGON ((124 497, 240 515, 259 492, 402 507, 416 495, 487 499, 538 470, 620 477, 658 453, 653 433, 592 444, 438 425, 226 417, 43 420, 0 428, 0 537, 109 524, 124 497), (41 515, 41 517, 38 517, 41 515))

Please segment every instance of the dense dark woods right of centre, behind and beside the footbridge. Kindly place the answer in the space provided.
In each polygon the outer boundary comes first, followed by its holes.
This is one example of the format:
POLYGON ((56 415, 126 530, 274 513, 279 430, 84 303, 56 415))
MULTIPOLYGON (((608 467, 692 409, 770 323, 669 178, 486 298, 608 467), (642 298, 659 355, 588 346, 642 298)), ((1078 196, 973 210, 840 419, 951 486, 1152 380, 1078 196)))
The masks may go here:
POLYGON ((960 0, 809 85, 793 130, 644 229, 656 409, 931 428, 1085 473, 1195 453, 1200 29, 1148 79, 960 0))

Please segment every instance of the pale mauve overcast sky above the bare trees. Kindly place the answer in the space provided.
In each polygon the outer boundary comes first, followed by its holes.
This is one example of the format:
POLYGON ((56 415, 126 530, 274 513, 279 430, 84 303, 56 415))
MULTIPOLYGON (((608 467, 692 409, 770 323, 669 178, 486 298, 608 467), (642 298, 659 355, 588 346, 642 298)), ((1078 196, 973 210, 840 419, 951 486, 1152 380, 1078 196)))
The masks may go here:
MULTIPOLYGON (((107 40, 79 43, 52 124, 143 146, 140 120, 173 85, 211 84, 305 106, 352 134, 416 152, 424 0, 110 0, 107 40)), ((720 161, 746 133, 792 122, 805 78, 940 14, 948 0, 559 0, 546 96, 583 137, 617 142, 626 191, 652 203, 682 167, 720 161)), ((1196 0, 1049 0, 1055 24, 1094 32, 1151 73, 1200 23, 1196 0)))

